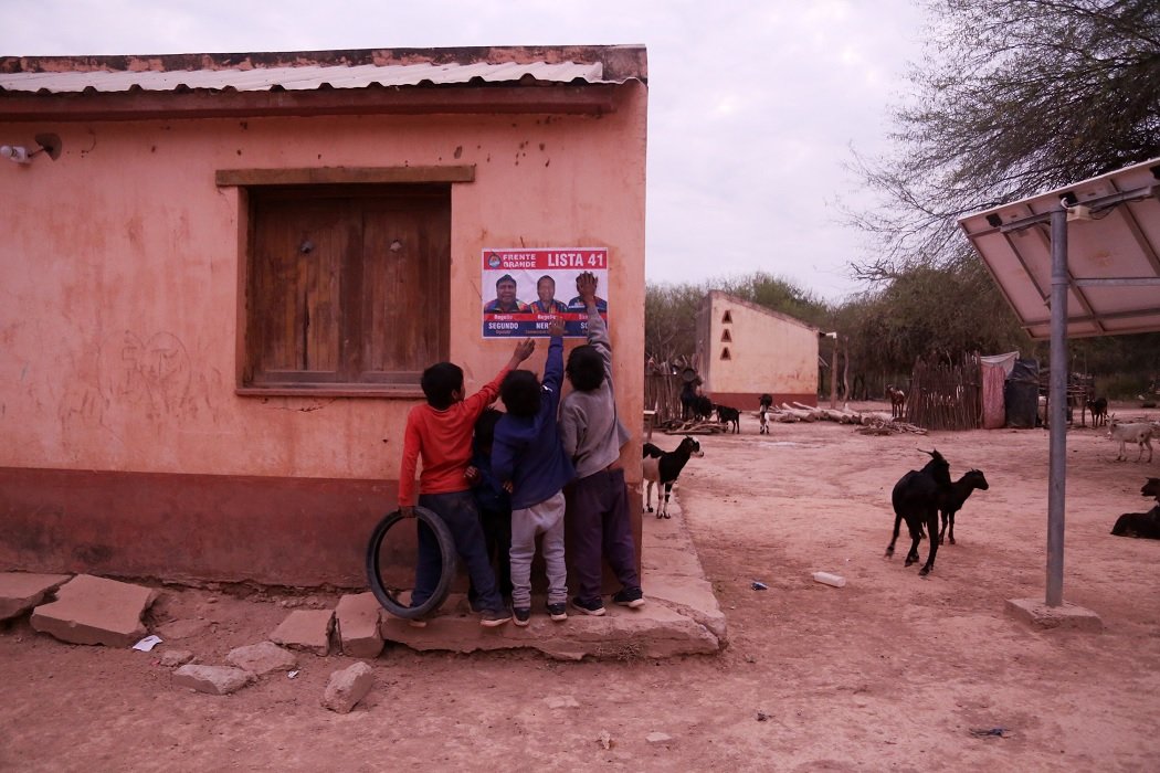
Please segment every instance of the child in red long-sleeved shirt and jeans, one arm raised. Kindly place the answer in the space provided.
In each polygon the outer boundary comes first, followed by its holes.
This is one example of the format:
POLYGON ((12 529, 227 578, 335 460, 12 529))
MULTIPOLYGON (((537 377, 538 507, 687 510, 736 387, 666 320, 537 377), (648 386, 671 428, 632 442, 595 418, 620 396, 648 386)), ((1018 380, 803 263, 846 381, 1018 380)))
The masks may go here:
MULTIPOLYGON (((479 625, 501 626, 512 619, 495 588, 495 575, 487 560, 484 532, 471 495, 467 467, 471 465, 471 435, 476 420, 499 396, 500 382, 508 371, 528 359, 536 344, 525 338, 515 345, 512 359, 484 388, 466 400, 463 393, 463 370, 452 363, 437 363, 423 371, 422 388, 427 404, 415 406, 407 414, 399 472, 399 511, 414 516, 415 469, 421 458, 418 504, 432 510, 447 524, 455 539, 455 549, 467 566, 471 584, 478 593, 479 625)), ((438 540, 422 522, 415 562, 415 588, 411 605, 419 606, 430 598, 443 571, 438 540)), ((426 621, 412 621, 426 625, 426 621)))

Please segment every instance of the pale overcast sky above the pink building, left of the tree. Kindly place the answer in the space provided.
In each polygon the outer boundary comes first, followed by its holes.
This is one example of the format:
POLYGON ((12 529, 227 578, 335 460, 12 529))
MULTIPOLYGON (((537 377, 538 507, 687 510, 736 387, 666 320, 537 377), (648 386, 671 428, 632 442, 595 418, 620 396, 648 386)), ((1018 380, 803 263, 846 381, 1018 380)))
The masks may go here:
POLYGON ((885 150, 911 0, 0 0, 0 56, 463 45, 648 49, 650 282, 767 271, 827 300, 864 254, 853 146, 885 150))

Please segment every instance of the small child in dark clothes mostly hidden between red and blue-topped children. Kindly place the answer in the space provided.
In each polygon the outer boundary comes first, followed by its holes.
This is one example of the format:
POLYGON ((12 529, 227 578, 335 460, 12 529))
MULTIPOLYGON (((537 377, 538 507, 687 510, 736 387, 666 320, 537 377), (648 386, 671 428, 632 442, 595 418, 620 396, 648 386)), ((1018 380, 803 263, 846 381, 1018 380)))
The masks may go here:
MULTIPOLYGON (((476 422, 467 480, 471 482, 471 494, 479 510, 479 525, 484 528, 487 559, 495 570, 495 585, 500 596, 510 599, 512 567, 508 552, 512 549, 512 495, 503 488, 503 481, 492 473, 492 442, 495 437, 495 423, 502 415, 494 408, 488 408, 476 422)), ((479 595, 474 586, 469 588, 467 600, 472 606, 479 604, 479 595)))

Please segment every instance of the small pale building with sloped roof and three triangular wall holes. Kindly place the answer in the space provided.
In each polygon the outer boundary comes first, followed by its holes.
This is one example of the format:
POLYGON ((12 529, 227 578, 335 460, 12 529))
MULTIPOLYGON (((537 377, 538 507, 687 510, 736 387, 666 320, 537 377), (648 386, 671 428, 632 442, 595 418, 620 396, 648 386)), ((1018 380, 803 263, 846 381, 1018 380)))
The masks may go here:
POLYGON ((701 389, 715 403, 757 410, 768 393, 775 404, 818 404, 818 328, 712 290, 696 329, 701 389))

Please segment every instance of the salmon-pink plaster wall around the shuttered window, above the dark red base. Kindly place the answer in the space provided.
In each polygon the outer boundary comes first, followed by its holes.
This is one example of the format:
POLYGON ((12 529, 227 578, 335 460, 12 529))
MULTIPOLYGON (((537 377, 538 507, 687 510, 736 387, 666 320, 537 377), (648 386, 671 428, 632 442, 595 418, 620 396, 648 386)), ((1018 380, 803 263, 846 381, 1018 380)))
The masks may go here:
MULTIPOLYGON (((5 144, 35 147, 43 131, 63 139, 59 159, 0 163, 5 480, 38 468, 386 481, 393 499, 406 413, 421 396, 235 394, 246 223, 240 191, 215 184, 220 169, 474 165, 474 182, 455 183, 451 198, 450 359, 467 389, 513 347, 480 336, 481 302, 494 296, 480 286, 480 250, 602 246, 619 409, 641 415, 640 83, 619 88, 601 117, 0 117, 5 144)), ((405 302, 422 302, 422 289, 405 291, 405 302)), ((624 453, 637 486, 639 449, 636 437, 624 453)))

